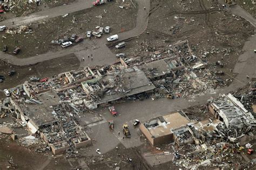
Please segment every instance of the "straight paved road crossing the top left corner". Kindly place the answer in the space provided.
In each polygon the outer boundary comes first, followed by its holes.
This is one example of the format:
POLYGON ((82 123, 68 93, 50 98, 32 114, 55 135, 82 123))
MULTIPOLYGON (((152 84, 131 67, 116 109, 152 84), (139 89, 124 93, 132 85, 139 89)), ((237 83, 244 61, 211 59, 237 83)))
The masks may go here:
POLYGON ((66 13, 76 12, 79 10, 87 9, 92 7, 93 0, 77 0, 68 5, 60 5, 55 8, 46 9, 43 11, 32 13, 29 16, 11 18, 0 22, 0 25, 8 27, 16 27, 26 25, 32 22, 38 22, 43 19, 49 19, 57 16, 65 15, 66 13), (14 24, 12 24, 14 22, 14 24))

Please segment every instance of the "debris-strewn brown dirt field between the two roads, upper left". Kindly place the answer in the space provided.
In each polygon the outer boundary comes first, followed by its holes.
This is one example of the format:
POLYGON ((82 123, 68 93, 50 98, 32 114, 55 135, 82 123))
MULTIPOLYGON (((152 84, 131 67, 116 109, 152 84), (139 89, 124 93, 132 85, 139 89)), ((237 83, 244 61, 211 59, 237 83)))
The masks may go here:
POLYGON ((135 26, 136 13, 137 9, 134 6, 120 9, 118 3, 106 3, 97 8, 69 13, 66 17, 59 16, 34 23, 29 26, 32 28, 32 33, 25 33, 28 30, 21 34, 0 32, 0 36, 5 37, 0 41, 0 47, 7 45, 9 54, 12 54, 15 47, 20 47, 21 52, 16 55, 18 58, 29 58, 48 51, 65 50, 60 45, 52 45, 51 41, 64 38, 64 36, 70 37, 73 33, 86 37, 86 32, 95 30, 98 25, 110 26, 111 34, 128 31, 135 26), (75 16, 76 22, 72 22, 73 16, 75 16))

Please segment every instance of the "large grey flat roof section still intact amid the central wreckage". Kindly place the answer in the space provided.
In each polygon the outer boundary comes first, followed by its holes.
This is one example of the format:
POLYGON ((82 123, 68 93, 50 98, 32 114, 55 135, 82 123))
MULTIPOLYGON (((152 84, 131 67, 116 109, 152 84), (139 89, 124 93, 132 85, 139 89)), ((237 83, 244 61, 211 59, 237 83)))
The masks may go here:
POLYGON ((85 99, 85 105, 90 109, 123 97, 147 93, 155 88, 144 72, 137 67, 111 70, 103 76, 81 84, 88 96, 85 99))

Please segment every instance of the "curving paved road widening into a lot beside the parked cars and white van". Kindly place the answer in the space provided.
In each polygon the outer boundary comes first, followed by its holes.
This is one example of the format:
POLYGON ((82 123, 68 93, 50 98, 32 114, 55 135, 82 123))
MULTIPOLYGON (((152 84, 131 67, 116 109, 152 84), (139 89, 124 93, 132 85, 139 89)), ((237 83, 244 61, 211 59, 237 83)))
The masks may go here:
MULTIPOLYGON (((118 34, 119 40, 124 40, 130 37, 139 36, 139 34, 144 32, 144 30, 147 27, 147 18, 148 18, 149 9, 150 9, 150 1, 147 1, 147 0, 136 0, 136 1, 138 5, 136 26, 134 27, 134 29, 130 31, 118 34), (146 7, 146 10, 144 10, 144 6, 146 7)), ((88 6, 88 8, 90 8, 90 6, 88 6)), ((62 15, 60 11, 59 11, 59 14, 62 15)), ((32 56, 26 59, 19 59, 16 56, 0 52, 0 59, 8 60, 14 65, 25 66, 25 65, 32 65, 32 64, 50 60, 50 59, 59 58, 64 55, 74 53, 76 54, 79 60, 81 60, 83 57, 85 57, 86 59, 85 62, 80 63, 80 68, 84 66, 90 66, 90 65, 111 64, 114 61, 116 61, 117 58, 110 51, 110 49, 105 45, 107 36, 110 36, 110 35, 109 34, 104 35, 100 39, 93 39, 93 40, 85 39, 85 41, 73 47, 62 49, 61 51, 58 51, 58 52, 48 52, 45 54, 32 56), (90 59, 87 59, 88 54, 93 54, 93 61, 91 61, 90 59)))

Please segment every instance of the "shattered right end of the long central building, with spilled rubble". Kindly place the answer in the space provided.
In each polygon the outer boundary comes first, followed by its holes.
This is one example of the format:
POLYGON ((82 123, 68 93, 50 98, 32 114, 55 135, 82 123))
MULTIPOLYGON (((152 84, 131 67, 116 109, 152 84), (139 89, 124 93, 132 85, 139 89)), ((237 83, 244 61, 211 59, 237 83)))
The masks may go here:
MULTIPOLYGON (((206 54, 208 53, 210 52, 206 54)), ((124 61, 128 66, 141 66, 157 87, 155 90, 157 94, 154 96, 158 97, 175 93, 183 93, 183 97, 198 96, 214 93, 215 89, 226 85, 219 76, 223 72, 215 72, 207 68, 207 62, 192 53, 187 41, 169 45, 166 49, 154 52, 148 57, 142 56, 124 59, 124 61), (150 65, 151 62, 154 65, 150 65), (150 65, 150 67, 144 67, 144 65, 150 65), (169 68, 163 69, 165 65, 169 68)))

